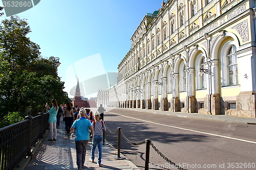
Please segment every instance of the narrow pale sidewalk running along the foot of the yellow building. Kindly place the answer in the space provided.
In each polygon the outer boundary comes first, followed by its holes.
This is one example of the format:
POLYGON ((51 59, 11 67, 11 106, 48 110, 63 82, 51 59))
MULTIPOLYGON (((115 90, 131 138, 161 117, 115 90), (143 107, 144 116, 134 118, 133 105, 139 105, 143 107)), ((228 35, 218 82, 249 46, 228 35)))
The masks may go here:
POLYGON ((231 116, 231 115, 211 115, 211 114, 202 114, 202 113, 172 112, 172 111, 161 111, 161 110, 140 109, 140 108, 118 108, 118 109, 129 109, 132 111, 148 112, 148 113, 154 113, 154 114, 165 114, 165 115, 177 116, 177 117, 216 120, 216 121, 228 122, 228 123, 256 124, 256 118, 238 117, 238 116, 231 116))

